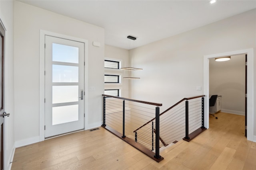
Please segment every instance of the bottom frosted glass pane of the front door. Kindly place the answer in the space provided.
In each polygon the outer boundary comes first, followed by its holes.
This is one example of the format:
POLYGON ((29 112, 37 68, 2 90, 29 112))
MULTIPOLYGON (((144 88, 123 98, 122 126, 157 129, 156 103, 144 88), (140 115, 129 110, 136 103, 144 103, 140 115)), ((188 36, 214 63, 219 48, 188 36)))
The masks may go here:
POLYGON ((52 125, 78 121, 78 105, 52 107, 52 125))

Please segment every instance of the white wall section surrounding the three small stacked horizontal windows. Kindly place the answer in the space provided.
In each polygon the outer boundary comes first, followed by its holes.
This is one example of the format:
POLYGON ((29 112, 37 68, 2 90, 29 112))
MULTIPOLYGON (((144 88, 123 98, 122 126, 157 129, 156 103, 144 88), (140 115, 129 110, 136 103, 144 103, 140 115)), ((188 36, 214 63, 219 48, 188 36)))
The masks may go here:
MULTIPOLYGON (((116 59, 121 62, 122 67, 128 67, 129 65, 129 51, 126 49, 121 49, 118 47, 113 47, 110 45, 105 45, 105 59, 116 59)), ((115 70, 111 68, 105 68, 105 74, 118 74, 121 77, 128 77, 129 72, 125 70, 115 70)), ((121 95, 124 98, 129 97, 129 80, 122 79, 120 80, 120 84, 116 85, 113 83, 105 83, 105 89, 120 89, 121 95)))

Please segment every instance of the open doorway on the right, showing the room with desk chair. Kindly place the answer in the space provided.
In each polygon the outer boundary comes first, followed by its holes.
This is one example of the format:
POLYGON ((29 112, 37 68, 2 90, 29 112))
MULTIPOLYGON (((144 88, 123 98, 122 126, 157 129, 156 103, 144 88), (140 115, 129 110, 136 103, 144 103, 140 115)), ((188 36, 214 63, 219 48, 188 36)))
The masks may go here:
MULTIPOLYGON (((210 112, 228 120, 226 124, 239 124, 238 135, 246 136, 246 55, 233 55, 230 58, 222 62, 209 59, 209 94, 218 95, 219 98, 215 107, 210 107, 210 112)), ((210 116, 210 126, 216 124, 210 116)), ((231 125, 229 127, 233 127, 231 125)))

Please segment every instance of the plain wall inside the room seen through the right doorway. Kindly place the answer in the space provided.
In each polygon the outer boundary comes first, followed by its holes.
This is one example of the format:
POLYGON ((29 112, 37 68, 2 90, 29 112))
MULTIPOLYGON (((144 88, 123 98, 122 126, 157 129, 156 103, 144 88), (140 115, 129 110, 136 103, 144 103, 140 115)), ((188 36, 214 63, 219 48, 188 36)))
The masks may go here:
POLYGON ((209 62, 209 93, 222 96, 223 112, 245 115, 245 55, 209 62))

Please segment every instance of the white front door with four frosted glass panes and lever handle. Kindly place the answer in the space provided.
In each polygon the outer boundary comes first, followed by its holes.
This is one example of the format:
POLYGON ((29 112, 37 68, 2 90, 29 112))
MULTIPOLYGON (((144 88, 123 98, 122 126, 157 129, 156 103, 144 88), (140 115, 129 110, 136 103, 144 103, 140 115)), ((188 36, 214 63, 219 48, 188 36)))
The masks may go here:
POLYGON ((84 129, 84 43, 45 35, 45 138, 84 129))

